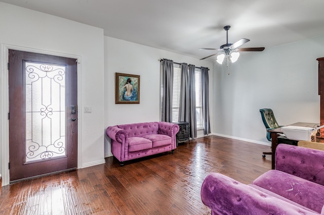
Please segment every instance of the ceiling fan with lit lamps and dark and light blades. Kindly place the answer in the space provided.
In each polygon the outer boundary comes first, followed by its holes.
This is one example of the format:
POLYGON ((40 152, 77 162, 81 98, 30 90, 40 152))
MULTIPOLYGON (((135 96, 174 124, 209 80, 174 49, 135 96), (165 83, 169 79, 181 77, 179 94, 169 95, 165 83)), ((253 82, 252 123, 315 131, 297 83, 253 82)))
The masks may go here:
POLYGON ((239 48, 239 46, 241 46, 242 44, 250 41, 250 39, 245 39, 245 38, 242 38, 235 43, 228 43, 228 30, 230 29, 230 27, 231 26, 229 26, 229 25, 224 26, 224 30, 226 31, 226 44, 221 45, 219 48, 199 48, 199 49, 204 49, 204 50, 218 50, 219 51, 218 53, 207 56, 200 60, 204 60, 204 59, 210 58, 212 56, 218 55, 217 62, 219 64, 222 64, 224 58, 227 57, 227 66, 228 66, 229 59, 231 60, 232 63, 237 61, 237 59, 239 57, 238 51, 263 51, 264 50, 264 47, 239 48))

